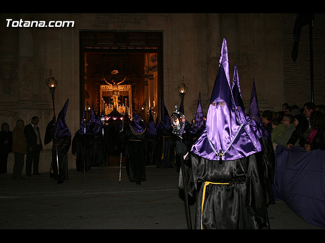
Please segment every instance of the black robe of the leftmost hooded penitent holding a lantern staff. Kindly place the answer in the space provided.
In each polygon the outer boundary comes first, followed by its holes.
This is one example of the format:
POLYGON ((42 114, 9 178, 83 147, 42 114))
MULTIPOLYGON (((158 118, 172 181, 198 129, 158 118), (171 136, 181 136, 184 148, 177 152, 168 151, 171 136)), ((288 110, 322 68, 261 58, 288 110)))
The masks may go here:
POLYGON ((52 164, 50 177, 55 180, 66 181, 68 176, 68 151, 71 146, 71 137, 55 139, 53 123, 46 127, 44 144, 52 143, 52 164), (57 153, 56 153, 57 151, 57 153), (57 169, 59 170, 57 173, 57 169))

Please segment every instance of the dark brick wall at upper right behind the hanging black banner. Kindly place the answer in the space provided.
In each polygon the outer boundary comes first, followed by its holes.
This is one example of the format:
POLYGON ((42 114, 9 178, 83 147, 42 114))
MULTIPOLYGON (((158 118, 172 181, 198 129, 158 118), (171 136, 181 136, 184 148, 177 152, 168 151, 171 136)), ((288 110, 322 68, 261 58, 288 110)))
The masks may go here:
MULTIPOLYGON (((310 45, 309 25, 301 31, 298 58, 291 59, 294 44, 293 29, 297 14, 283 14, 283 70, 285 102, 289 105, 297 104, 299 108, 307 101, 311 101, 310 76, 310 45)), ((314 102, 316 105, 325 104, 325 14, 315 14, 313 22, 313 75, 314 102)))

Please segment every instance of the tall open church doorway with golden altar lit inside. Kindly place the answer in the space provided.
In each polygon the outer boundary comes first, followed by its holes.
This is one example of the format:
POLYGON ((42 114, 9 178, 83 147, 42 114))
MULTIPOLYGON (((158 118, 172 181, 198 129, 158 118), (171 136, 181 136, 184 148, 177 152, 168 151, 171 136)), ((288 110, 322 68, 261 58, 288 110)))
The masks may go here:
POLYGON ((80 120, 85 114, 88 121, 92 109, 103 118, 108 141, 103 166, 120 163, 116 136, 122 121, 125 126, 139 114, 146 122, 151 110, 158 122, 162 40, 161 32, 80 31, 80 120))

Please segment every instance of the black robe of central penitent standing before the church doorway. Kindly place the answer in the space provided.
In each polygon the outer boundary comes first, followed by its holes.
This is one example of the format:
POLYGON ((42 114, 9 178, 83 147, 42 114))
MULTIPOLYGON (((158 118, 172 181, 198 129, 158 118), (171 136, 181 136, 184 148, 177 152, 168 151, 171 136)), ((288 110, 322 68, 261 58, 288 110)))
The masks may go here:
POLYGON ((131 126, 125 126, 121 133, 125 143, 125 167, 129 181, 142 182, 146 180, 146 130, 136 134, 131 126))

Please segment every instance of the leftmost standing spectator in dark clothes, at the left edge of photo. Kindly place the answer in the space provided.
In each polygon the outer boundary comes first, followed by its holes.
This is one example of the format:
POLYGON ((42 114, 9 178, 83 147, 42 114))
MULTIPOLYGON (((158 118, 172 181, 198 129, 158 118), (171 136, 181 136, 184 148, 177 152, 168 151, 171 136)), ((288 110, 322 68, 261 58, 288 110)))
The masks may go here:
POLYGON ((12 132, 9 124, 3 123, 0 131, 0 174, 7 174, 8 154, 12 151, 12 132))

